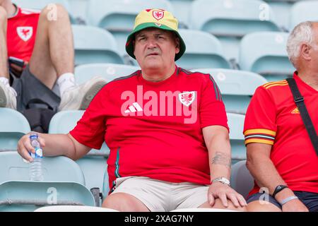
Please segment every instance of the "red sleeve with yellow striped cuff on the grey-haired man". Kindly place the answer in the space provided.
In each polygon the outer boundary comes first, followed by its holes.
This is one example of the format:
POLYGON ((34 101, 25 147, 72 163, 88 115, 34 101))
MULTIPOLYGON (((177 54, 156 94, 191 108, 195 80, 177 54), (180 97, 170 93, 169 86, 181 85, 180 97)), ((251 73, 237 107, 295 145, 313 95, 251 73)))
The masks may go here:
POLYGON ((245 145, 266 143, 273 145, 276 136, 276 105, 271 94, 260 86, 255 91, 245 116, 245 145))

